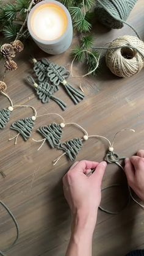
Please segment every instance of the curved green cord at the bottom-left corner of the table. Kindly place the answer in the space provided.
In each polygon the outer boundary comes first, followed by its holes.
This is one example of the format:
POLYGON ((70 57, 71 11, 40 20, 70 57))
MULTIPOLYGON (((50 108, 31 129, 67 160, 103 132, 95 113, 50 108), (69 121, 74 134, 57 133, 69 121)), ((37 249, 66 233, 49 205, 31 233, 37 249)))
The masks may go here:
POLYGON ((15 238, 15 241, 13 241, 13 243, 7 248, 5 249, 4 251, 0 251, 0 255, 2 256, 5 256, 5 252, 8 252, 10 251, 10 249, 12 249, 12 247, 16 244, 16 242, 18 241, 18 238, 19 238, 19 235, 20 235, 20 229, 19 229, 19 225, 18 225, 18 222, 16 221, 16 218, 15 216, 13 215, 12 211, 10 211, 10 209, 7 207, 7 205, 5 205, 4 202, 2 202, 0 200, 0 204, 2 205, 2 207, 5 208, 5 210, 7 211, 7 213, 9 213, 10 217, 12 218, 14 224, 15 224, 15 227, 16 227, 16 238, 15 238))

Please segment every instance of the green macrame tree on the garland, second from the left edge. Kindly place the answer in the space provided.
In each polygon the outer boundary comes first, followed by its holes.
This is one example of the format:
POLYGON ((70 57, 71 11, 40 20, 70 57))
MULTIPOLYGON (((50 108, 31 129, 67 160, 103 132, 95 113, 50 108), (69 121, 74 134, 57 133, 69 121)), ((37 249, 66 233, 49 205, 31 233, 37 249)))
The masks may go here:
POLYGON ((18 131, 23 137, 24 141, 27 141, 32 135, 32 130, 34 128, 34 120, 31 117, 26 119, 18 120, 10 126, 10 129, 18 131))

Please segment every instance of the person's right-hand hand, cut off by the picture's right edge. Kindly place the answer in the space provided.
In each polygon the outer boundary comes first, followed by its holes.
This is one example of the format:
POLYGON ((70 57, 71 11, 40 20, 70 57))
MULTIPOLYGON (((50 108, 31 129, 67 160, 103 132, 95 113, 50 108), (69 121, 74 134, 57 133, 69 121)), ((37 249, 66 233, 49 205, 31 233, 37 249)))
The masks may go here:
POLYGON ((124 172, 129 186, 144 202, 144 150, 139 150, 137 156, 125 159, 124 172))

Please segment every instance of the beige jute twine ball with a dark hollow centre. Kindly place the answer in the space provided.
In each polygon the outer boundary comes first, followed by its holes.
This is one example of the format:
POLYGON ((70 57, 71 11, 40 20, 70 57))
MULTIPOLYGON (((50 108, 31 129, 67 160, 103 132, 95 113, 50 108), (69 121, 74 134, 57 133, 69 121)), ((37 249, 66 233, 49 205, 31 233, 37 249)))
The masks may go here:
POLYGON ((144 65, 144 43, 138 37, 131 35, 118 37, 110 43, 109 48, 113 47, 121 47, 118 49, 108 49, 106 53, 106 64, 113 74, 126 78, 142 70, 144 65), (126 48, 124 46, 129 47, 126 48), (132 49, 131 46, 135 49, 132 49))

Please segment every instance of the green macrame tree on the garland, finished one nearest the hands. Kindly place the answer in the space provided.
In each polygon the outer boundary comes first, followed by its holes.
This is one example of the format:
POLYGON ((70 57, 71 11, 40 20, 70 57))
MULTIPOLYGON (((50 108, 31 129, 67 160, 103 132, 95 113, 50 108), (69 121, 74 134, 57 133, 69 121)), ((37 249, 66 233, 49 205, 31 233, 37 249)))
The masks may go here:
POLYGON ((59 145, 58 149, 63 150, 66 155, 70 158, 71 161, 76 159, 79 151, 82 148, 82 139, 81 138, 74 138, 70 141, 64 142, 59 145))

